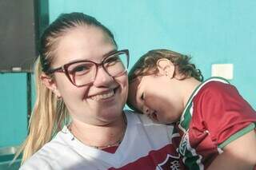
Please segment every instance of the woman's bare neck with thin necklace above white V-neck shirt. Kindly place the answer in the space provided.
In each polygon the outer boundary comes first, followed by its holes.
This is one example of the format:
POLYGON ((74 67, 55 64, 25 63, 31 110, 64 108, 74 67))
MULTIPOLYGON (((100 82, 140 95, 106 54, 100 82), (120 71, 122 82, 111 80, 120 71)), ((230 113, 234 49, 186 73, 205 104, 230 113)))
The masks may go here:
POLYGON ((107 125, 88 125, 74 120, 70 124, 70 131, 83 144, 94 148, 107 148, 118 145, 126 132, 126 116, 122 114, 107 125))

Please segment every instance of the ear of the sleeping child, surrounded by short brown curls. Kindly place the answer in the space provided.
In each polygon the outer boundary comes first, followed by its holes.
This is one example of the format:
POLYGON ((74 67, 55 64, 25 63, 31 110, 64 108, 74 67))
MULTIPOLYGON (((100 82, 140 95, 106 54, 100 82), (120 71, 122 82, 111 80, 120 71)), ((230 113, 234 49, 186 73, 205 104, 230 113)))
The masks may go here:
POLYGON ((173 78, 175 72, 174 63, 166 58, 158 59, 157 61, 158 71, 161 75, 166 75, 167 77, 173 78))

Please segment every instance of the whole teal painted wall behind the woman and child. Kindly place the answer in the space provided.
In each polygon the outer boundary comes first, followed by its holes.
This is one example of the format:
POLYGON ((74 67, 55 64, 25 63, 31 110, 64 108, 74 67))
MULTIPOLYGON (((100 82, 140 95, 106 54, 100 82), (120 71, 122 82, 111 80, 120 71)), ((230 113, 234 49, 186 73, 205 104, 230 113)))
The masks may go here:
MULTIPOLYGON (((113 31, 119 49, 130 49, 131 65, 150 49, 189 54, 204 76, 211 65, 234 64, 242 96, 256 109, 255 0, 49 0, 50 22, 81 11, 113 31)), ((26 74, 0 74, 0 147, 26 136, 26 74)))

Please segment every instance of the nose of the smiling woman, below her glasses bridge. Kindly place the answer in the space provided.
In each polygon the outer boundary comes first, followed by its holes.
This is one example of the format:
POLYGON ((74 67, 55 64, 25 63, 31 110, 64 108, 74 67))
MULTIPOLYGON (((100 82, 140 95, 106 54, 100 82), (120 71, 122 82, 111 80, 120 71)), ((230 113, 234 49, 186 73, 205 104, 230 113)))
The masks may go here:
POLYGON ((94 85, 97 87, 106 86, 112 81, 114 81, 114 78, 109 73, 106 73, 105 69, 99 67, 94 79, 94 85))

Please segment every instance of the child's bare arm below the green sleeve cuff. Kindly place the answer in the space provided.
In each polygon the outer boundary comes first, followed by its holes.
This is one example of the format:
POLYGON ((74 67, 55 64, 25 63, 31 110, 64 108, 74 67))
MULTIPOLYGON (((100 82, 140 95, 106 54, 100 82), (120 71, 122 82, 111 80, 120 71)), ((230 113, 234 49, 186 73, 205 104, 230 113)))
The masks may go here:
POLYGON ((254 169, 256 166, 256 131, 250 131, 227 144, 223 151, 208 169, 254 169))

